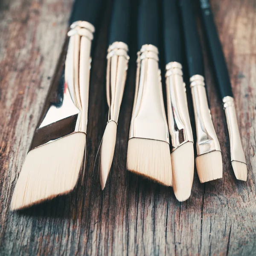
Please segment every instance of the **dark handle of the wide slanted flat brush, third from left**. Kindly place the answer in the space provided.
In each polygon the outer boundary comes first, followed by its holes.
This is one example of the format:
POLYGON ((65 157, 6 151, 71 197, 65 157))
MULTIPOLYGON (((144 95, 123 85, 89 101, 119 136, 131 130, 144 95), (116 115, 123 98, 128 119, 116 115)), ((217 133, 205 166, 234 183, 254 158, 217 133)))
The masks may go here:
POLYGON ((158 0, 140 0, 138 10, 138 47, 159 45, 158 0))

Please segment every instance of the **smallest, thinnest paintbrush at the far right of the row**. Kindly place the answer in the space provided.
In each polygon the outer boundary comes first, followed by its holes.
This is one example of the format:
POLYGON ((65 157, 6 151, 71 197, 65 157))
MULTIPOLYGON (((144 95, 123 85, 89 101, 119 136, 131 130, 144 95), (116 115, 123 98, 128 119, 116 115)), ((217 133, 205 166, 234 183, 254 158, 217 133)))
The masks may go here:
POLYGON ((247 180, 247 165, 239 134, 236 109, 226 61, 214 23, 212 10, 208 0, 200 0, 202 23, 206 35, 209 53, 212 59, 215 77, 221 96, 230 138, 230 153, 233 171, 238 180, 247 180))

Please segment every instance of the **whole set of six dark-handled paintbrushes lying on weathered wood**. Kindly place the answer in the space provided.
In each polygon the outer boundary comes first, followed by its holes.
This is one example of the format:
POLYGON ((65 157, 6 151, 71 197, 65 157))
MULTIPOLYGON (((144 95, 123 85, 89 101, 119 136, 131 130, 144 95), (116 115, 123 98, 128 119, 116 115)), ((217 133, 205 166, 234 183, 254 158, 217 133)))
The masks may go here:
MULTIPOLYGON (((65 64, 64 60, 58 64, 17 180, 12 209, 66 194, 76 186, 86 152, 91 45, 103 3, 103 0, 76 0, 74 3, 65 64)), ((191 0, 162 0, 160 5, 158 0, 140 0, 138 5, 138 17, 132 17, 131 0, 113 0, 106 77, 109 114, 100 151, 100 183, 104 189, 111 169, 128 70, 128 46, 133 40, 129 33, 131 19, 137 18, 139 52, 127 169, 165 186, 173 186, 176 198, 184 201, 191 194, 194 177, 194 140, 181 64, 184 51, 195 114, 198 176, 201 183, 222 177, 221 148, 207 102, 195 13, 191 0), (162 7, 162 23, 159 6, 162 7), (163 35, 160 35, 160 26, 163 35), (162 40, 167 117, 158 64, 162 40)), ((208 0, 201 0, 200 6, 209 57, 227 117, 231 163, 236 178, 246 180, 247 166, 224 55, 208 0)))

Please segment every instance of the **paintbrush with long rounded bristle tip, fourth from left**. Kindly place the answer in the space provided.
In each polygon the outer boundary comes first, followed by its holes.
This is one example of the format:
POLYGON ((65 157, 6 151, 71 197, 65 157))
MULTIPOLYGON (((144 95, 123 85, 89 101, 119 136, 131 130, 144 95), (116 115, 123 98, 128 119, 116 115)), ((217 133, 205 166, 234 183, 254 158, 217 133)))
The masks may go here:
POLYGON ((191 194, 194 177, 194 141, 181 65, 180 21, 176 0, 163 0, 162 7, 168 125, 173 147, 172 186, 176 198, 185 201, 191 194))

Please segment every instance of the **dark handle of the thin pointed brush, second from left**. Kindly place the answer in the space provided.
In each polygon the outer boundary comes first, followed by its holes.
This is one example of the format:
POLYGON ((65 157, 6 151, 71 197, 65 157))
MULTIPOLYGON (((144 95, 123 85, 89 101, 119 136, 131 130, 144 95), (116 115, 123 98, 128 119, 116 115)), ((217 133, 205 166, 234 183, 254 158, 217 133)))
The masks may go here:
POLYGON ((128 45, 131 25, 131 0, 114 0, 110 24, 109 44, 124 42, 128 45))

